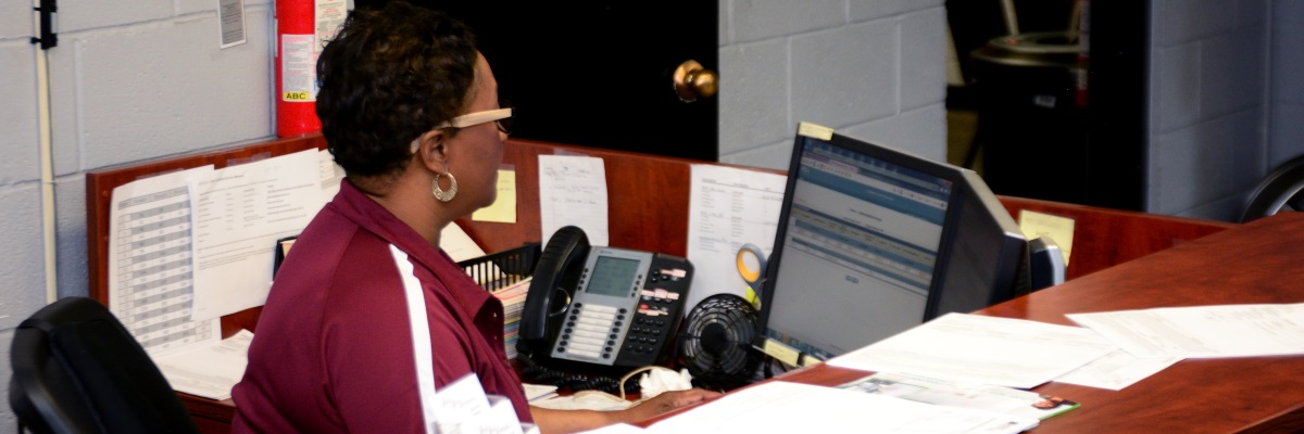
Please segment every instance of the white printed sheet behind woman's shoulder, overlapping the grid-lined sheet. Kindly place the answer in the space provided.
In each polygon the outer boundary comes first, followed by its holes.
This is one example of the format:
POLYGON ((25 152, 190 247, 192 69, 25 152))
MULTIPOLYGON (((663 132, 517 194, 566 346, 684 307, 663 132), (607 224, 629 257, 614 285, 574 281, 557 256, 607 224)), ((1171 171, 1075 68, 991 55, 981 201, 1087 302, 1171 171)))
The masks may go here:
POLYGON ((214 171, 196 186, 194 310, 220 318, 263 305, 276 240, 325 205, 316 149, 214 171))

